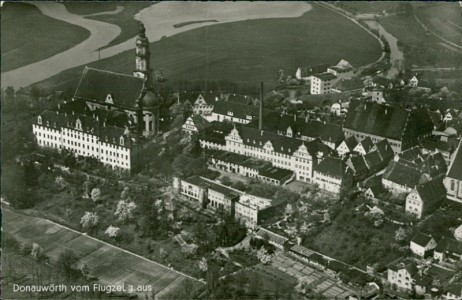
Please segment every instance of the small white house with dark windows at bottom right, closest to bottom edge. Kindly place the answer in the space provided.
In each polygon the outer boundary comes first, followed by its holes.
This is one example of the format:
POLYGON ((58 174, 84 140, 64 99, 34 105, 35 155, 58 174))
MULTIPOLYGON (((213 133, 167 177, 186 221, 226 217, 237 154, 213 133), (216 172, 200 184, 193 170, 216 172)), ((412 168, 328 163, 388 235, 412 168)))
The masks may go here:
POLYGON ((404 260, 388 266, 387 282, 400 291, 412 291, 412 277, 418 272, 417 265, 412 260, 404 260))

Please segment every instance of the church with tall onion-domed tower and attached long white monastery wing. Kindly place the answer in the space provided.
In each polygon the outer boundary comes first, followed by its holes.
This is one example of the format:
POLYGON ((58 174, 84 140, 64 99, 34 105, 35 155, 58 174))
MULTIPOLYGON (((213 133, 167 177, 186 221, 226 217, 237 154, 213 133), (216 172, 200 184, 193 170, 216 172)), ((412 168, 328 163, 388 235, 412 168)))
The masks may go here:
POLYGON ((133 75, 85 67, 71 101, 37 116, 32 125, 37 145, 93 157, 112 169, 139 170, 139 150, 158 132, 160 106, 143 24, 135 62, 133 75))

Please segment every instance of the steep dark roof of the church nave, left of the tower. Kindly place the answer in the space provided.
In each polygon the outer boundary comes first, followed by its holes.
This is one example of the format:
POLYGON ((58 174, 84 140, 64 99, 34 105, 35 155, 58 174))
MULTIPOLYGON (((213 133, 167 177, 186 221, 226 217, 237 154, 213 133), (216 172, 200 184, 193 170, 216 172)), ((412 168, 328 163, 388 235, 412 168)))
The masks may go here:
POLYGON ((105 103, 111 94, 114 105, 134 109, 144 79, 85 67, 74 97, 105 103))

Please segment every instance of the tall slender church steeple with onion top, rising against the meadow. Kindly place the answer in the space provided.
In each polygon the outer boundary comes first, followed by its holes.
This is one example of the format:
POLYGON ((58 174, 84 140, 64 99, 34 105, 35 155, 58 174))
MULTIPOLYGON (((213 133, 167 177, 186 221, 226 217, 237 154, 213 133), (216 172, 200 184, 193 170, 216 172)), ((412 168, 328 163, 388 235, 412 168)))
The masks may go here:
POLYGON ((149 86, 152 81, 151 63, 150 63, 151 52, 149 51, 149 40, 146 37, 145 33, 146 33, 146 28, 144 28, 143 23, 140 22, 139 33, 138 33, 138 36, 136 37, 136 47, 135 47, 136 68, 135 68, 135 71, 133 72, 133 76, 147 79, 146 83, 149 86))

